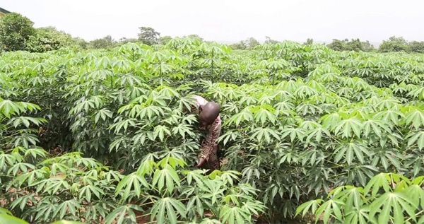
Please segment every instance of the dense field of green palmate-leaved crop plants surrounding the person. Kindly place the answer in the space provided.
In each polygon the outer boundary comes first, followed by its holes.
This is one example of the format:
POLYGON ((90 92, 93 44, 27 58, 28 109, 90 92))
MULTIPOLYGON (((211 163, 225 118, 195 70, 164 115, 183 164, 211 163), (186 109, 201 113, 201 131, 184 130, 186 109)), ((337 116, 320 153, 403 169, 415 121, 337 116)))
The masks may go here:
POLYGON ((1 218, 423 223, 424 56, 176 38, 0 57, 1 218), (194 168, 192 95, 221 105, 194 168))

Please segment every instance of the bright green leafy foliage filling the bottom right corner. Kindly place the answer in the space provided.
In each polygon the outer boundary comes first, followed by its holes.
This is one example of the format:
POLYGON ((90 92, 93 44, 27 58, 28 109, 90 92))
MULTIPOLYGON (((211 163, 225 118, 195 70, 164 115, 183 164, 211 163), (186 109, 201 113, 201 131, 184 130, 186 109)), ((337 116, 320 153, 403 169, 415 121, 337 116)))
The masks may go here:
POLYGON ((321 217, 324 223, 420 223, 424 217, 423 179, 380 173, 365 188, 336 187, 327 201, 307 201, 296 209, 296 215, 312 211, 315 223, 321 217))

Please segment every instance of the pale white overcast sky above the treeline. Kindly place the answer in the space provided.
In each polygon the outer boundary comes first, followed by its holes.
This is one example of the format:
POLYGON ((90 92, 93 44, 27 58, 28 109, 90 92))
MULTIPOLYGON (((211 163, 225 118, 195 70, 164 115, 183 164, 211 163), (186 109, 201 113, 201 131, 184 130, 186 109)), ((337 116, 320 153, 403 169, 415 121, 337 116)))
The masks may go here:
POLYGON ((316 41, 391 36, 424 40, 424 1, 416 0, 0 0, 0 7, 86 40, 137 37, 139 27, 161 36, 197 34, 206 40, 316 41))

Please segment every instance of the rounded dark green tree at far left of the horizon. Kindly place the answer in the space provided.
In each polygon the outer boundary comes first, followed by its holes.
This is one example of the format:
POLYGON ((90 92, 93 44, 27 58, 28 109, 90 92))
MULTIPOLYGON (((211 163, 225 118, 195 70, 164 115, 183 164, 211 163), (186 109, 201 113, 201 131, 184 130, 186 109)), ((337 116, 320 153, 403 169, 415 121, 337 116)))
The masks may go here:
POLYGON ((33 22, 19 13, 8 13, 0 19, 0 46, 5 51, 25 50, 34 34, 33 22))

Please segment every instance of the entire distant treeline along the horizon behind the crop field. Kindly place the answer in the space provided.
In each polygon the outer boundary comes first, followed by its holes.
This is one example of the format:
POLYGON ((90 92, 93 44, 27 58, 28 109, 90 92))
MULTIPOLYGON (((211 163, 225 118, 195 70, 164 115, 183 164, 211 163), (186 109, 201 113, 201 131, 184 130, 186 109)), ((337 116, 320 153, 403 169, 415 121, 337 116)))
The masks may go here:
MULTIPOLYGON (((192 37, 201 41, 203 38, 199 35, 188 35, 184 37, 192 37)), ((87 42, 80 37, 72 37, 71 35, 59 31, 54 27, 33 28, 33 22, 25 16, 18 13, 8 13, 0 18, 0 52, 1 51, 18 51, 26 50, 28 52, 47 52, 50 50, 70 47, 73 49, 106 49, 124 45, 127 42, 141 42, 145 45, 166 44, 172 39, 170 36, 160 36, 155 29, 149 27, 139 28, 139 34, 136 38, 122 37, 114 40, 110 35, 87 42)), ((308 38, 304 45, 310 45, 314 42, 312 38, 308 38)), ((277 40, 271 40, 266 37, 265 43, 278 43, 277 40)), ((230 45, 231 49, 255 49, 260 43, 254 37, 247 40, 241 40, 230 45)), ((325 43, 324 43, 325 45, 325 43)), ((375 48, 369 41, 361 41, 359 39, 334 39, 326 45, 330 49, 336 51, 355 51, 355 52, 416 52, 424 54, 424 42, 411 41, 408 42, 404 37, 390 37, 384 40, 382 45, 375 48)))

